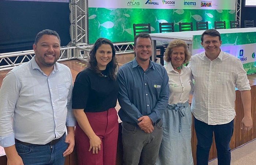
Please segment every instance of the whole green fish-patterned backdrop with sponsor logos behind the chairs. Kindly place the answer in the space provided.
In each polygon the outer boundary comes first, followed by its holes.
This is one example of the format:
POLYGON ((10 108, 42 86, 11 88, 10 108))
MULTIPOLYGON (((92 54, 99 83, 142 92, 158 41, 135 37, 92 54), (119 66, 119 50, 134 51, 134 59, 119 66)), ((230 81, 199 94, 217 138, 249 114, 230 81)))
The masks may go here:
POLYGON ((229 21, 236 16, 235 6, 236 0, 89 0, 88 42, 94 43, 99 37, 132 42, 133 23, 150 23, 152 33, 158 33, 159 23, 164 22, 173 22, 174 31, 179 31, 178 24, 183 22, 193 22, 194 30, 196 22, 206 21, 209 28, 214 28, 214 21, 225 21, 226 28, 230 28, 229 21), (204 3, 211 4, 207 7, 204 3))

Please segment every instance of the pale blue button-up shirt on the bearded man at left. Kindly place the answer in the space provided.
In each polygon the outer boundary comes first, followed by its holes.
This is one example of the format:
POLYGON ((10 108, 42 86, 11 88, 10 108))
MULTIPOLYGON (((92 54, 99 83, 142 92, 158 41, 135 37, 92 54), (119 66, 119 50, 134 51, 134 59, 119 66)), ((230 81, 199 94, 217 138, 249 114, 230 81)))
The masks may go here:
POLYGON ((12 69, 0 88, 0 146, 15 144, 14 138, 46 144, 60 138, 66 126, 75 126, 71 109, 72 75, 56 62, 49 76, 35 62, 12 69))

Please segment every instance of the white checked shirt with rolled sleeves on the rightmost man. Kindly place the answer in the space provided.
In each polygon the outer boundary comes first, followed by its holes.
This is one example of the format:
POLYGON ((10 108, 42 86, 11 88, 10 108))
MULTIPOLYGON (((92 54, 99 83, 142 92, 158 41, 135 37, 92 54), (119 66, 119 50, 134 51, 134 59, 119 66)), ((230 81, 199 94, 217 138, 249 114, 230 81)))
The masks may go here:
POLYGON ((211 61, 202 52, 191 57, 188 67, 195 79, 191 104, 195 118, 210 125, 233 120, 236 116, 235 87, 239 91, 251 90, 241 61, 223 51, 211 61))

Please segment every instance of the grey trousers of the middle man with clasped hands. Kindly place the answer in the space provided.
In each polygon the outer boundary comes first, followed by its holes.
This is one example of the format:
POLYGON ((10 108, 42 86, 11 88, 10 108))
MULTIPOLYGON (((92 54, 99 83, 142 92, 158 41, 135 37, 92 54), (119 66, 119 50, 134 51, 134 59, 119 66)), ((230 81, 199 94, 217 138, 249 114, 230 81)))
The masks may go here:
POLYGON ((122 123, 124 165, 155 165, 162 141, 162 120, 152 133, 145 133, 138 125, 122 123))

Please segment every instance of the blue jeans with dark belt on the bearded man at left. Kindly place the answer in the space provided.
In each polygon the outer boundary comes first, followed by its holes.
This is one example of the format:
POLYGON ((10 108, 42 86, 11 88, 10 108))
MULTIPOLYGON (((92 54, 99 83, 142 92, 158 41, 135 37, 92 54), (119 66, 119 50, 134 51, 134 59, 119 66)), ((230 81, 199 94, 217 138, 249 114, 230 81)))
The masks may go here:
POLYGON ((52 146, 27 146, 15 143, 15 147, 24 165, 64 165, 65 157, 63 157, 63 153, 68 147, 65 138, 66 135, 52 146))

